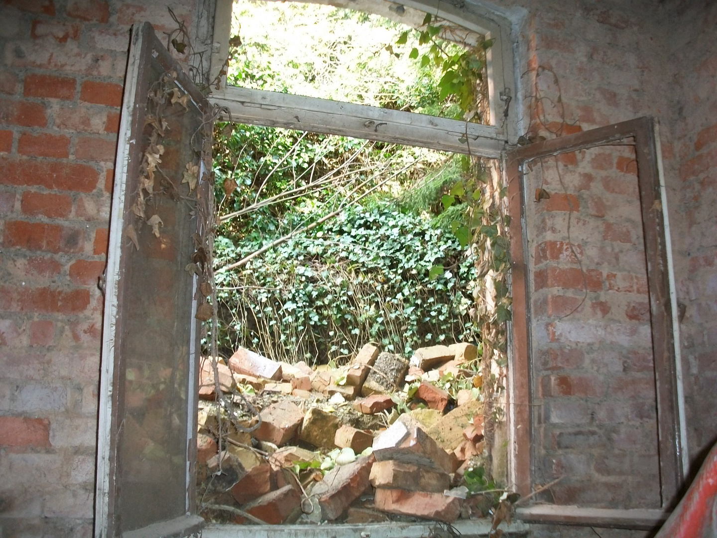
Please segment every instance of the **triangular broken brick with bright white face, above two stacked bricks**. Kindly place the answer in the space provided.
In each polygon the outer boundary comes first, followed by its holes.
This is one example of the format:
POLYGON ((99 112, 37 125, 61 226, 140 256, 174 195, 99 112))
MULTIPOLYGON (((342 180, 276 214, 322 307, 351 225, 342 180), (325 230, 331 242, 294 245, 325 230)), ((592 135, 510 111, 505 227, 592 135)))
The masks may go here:
POLYGON ((420 423, 404 413, 391 427, 374 439, 376 461, 396 460, 435 471, 450 473, 448 454, 420 428, 420 423))

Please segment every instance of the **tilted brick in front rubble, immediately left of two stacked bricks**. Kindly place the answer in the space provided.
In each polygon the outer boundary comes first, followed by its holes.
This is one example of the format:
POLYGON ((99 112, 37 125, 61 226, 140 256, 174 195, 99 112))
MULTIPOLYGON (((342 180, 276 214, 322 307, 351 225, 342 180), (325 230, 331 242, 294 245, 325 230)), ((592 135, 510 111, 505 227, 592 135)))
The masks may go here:
POLYGON ((353 463, 333 468, 323 481, 316 483, 311 494, 318 497, 323 519, 333 521, 341 516, 348 505, 366 491, 373 464, 373 455, 361 456, 353 463))

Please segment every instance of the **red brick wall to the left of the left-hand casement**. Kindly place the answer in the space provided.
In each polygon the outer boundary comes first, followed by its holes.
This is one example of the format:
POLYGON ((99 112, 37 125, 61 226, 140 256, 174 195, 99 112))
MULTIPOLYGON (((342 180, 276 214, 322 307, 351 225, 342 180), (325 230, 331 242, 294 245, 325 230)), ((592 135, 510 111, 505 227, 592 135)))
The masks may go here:
MULTIPOLYGON (((194 2, 171 2, 191 27, 194 2)), ((130 25, 165 3, 0 4, 0 535, 89 536, 103 272, 130 25)))

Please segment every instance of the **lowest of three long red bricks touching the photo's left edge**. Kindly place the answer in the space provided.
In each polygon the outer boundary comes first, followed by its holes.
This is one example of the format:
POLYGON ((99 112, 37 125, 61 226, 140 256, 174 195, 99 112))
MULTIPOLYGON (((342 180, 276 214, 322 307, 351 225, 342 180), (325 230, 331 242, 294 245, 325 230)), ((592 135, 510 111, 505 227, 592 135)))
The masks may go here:
POLYGON ((0 306, 9 312, 76 314, 90 306, 90 291, 3 287, 0 306))

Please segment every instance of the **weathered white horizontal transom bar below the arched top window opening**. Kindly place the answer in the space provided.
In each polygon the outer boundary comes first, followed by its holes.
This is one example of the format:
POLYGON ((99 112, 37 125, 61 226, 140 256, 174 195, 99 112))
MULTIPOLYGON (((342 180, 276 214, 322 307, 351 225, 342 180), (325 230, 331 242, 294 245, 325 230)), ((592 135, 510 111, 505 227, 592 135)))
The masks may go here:
POLYGON ((209 101, 222 120, 315 133, 368 138, 461 154, 498 158, 503 133, 491 126, 328 99, 248 88, 227 88, 209 101))

